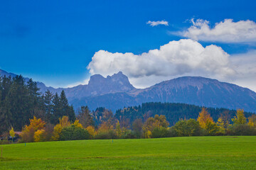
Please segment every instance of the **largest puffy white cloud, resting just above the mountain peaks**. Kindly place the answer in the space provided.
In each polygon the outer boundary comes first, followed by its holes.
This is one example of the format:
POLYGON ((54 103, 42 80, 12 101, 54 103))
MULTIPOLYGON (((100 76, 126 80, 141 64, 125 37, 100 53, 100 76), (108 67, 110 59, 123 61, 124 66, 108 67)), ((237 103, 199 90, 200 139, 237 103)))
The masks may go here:
POLYGON ((88 64, 90 74, 112 75, 122 71, 134 86, 151 86, 159 81, 179 76, 204 76, 216 79, 232 77, 235 70, 230 65, 230 55, 221 47, 203 47, 195 40, 171 41, 160 49, 141 55, 131 52, 100 50, 88 64))

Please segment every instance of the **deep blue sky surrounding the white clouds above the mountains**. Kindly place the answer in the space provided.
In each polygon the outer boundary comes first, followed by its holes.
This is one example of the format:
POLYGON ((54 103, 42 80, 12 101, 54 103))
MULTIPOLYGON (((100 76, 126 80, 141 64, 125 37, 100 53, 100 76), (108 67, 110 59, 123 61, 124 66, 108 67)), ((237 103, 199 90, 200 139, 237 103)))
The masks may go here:
MULTIPOLYGON (((191 18, 209 21, 210 27, 228 18, 255 22, 255 8, 255 1, 1 1, 0 68, 48 86, 79 84, 92 72, 103 72, 87 69, 99 50, 140 55, 184 38, 176 33, 187 30, 191 18), (167 21, 169 26, 152 27, 148 21, 167 21)), ((203 47, 217 45, 231 57, 256 49, 254 40, 197 41, 203 47)), ((127 74, 131 79, 139 77, 127 74)), ((182 75, 171 74, 166 79, 182 75)), ((164 79, 163 74, 158 81, 164 79)))

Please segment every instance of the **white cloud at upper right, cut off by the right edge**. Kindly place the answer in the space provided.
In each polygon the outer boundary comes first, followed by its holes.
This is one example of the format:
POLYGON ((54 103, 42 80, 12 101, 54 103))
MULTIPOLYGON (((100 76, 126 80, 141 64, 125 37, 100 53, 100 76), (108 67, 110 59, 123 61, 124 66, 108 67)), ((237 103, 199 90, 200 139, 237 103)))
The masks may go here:
POLYGON ((256 42, 256 23, 254 21, 238 21, 225 19, 220 23, 215 23, 210 28, 209 21, 191 19, 193 26, 183 32, 178 32, 186 38, 193 40, 203 40, 208 42, 256 42))

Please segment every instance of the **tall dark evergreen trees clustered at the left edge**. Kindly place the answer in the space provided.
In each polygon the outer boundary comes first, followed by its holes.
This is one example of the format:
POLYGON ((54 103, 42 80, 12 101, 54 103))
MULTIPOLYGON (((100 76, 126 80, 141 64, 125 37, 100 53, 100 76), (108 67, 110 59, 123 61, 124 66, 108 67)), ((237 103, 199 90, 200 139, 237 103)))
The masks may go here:
POLYGON ((41 94, 32 79, 0 77, 0 135, 10 128, 21 131, 33 116, 55 125, 63 115, 75 121, 75 111, 64 91, 60 96, 50 91, 41 94))

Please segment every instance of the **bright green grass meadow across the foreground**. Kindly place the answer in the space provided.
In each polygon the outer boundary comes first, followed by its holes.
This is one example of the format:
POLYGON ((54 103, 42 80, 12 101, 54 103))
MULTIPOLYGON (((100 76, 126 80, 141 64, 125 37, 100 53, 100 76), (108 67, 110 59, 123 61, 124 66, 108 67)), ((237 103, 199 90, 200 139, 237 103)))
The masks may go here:
POLYGON ((256 137, 81 140, 0 147, 0 169, 256 169, 256 137))

